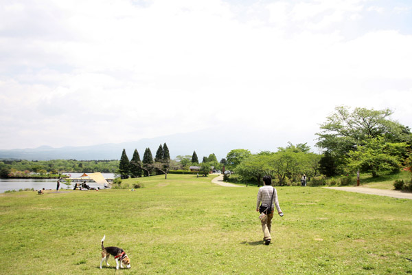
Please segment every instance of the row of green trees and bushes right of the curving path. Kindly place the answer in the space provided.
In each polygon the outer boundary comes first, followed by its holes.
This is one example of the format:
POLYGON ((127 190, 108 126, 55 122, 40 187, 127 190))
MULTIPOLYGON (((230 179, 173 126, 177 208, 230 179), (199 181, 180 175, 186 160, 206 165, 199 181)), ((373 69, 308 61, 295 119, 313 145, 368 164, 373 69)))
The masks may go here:
POLYGON ((257 154, 236 149, 227 154, 227 167, 240 181, 259 185, 263 175, 271 175, 279 186, 302 175, 310 180, 320 175, 399 173, 412 159, 412 134, 408 126, 391 120, 392 114, 390 109, 336 107, 317 133, 316 146, 323 153, 311 153, 306 143, 257 154))

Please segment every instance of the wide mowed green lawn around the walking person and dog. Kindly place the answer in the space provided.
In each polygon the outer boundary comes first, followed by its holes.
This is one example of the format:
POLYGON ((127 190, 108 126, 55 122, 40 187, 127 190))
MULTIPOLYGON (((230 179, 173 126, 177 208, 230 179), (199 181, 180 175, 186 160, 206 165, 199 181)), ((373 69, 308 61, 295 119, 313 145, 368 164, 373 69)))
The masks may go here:
MULTIPOLYGON (((257 187, 212 177, 138 179, 144 188, 0 195, 3 274, 412 273, 412 200, 277 187, 284 217, 262 244, 257 187), (100 240, 132 268, 100 270, 100 240)), ((137 179, 128 179, 136 181, 137 179)))

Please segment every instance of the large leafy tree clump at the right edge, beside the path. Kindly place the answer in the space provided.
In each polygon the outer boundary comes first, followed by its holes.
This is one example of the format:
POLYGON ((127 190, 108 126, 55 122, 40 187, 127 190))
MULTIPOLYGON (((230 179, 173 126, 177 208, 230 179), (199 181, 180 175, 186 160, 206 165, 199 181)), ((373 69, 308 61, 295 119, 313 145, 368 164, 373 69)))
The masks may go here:
POLYGON ((361 172, 388 173, 398 170, 411 148, 409 127, 389 117, 390 109, 336 107, 317 133, 319 148, 325 149, 321 170, 328 175, 361 172))

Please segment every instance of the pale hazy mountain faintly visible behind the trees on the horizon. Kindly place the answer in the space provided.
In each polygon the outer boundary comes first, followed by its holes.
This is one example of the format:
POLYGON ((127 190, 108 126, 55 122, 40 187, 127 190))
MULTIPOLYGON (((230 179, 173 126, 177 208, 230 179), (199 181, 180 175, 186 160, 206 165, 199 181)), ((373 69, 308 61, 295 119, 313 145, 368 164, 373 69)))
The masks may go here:
MULTIPOLYGON (((238 128, 238 127, 236 127, 238 128)), ((279 135, 282 136, 282 135, 279 135)), ((288 140, 276 140, 273 136, 267 136, 259 131, 242 131, 242 129, 212 128, 192 133, 176 133, 150 139, 142 139, 137 142, 123 142, 119 144, 98 144, 93 146, 65 146, 53 148, 40 146, 38 148, 0 150, 0 159, 119 159, 123 149, 131 159, 133 151, 137 149, 140 157, 143 157, 146 148, 150 148, 152 155, 156 154, 159 144, 168 144, 170 157, 177 155, 192 155, 196 151, 198 159, 214 153, 218 161, 226 157, 232 149, 244 148, 252 153, 259 151, 275 151, 278 146, 286 146, 288 140)))

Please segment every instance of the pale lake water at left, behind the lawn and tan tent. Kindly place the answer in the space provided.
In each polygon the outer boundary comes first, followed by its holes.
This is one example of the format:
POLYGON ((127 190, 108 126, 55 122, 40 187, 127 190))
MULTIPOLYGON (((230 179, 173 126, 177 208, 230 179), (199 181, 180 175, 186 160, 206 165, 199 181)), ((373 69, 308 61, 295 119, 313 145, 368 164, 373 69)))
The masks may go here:
MULTIPOLYGON (((63 173, 65 175, 71 175, 71 178, 80 177, 83 173, 63 173)), ((102 173, 103 177, 106 179, 113 179, 114 174, 112 173, 102 173)), ((87 183, 90 187, 103 188, 102 184, 96 184, 95 182, 87 183)), ((54 189, 57 187, 57 179, 0 179, 0 193, 7 190, 34 188, 34 190, 40 189, 54 189)), ((67 186, 64 181, 60 182, 60 189, 71 189, 73 190, 74 184, 67 186)), ((59 190, 60 190, 59 189, 59 190)))

